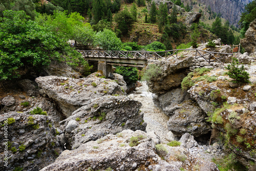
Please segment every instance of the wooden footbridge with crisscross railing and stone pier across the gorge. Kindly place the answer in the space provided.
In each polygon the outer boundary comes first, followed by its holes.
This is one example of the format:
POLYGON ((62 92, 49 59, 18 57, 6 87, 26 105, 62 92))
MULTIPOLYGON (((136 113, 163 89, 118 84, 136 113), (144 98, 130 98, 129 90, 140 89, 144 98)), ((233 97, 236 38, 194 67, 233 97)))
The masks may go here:
POLYGON ((225 63, 228 55, 232 53, 210 52, 199 49, 176 49, 161 52, 151 51, 103 51, 103 50, 78 50, 89 61, 98 61, 98 70, 108 77, 112 72, 112 66, 141 67, 147 64, 148 59, 167 60, 175 59, 178 53, 182 51, 194 51, 195 59, 202 57, 208 63, 221 62, 225 63))

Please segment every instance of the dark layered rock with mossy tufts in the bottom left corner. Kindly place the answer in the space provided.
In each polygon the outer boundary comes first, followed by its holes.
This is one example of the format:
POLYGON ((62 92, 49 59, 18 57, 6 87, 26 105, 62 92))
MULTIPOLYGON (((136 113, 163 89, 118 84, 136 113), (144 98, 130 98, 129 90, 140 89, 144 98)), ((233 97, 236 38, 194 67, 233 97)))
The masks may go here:
POLYGON ((54 162, 62 152, 49 116, 11 112, 0 115, 0 123, 4 124, 7 118, 14 122, 9 122, 8 136, 4 135, 5 127, 1 127, 0 157, 8 158, 8 167, 4 167, 4 160, 0 161, 1 170, 13 170, 18 166, 24 170, 39 170, 54 162), (5 148, 8 153, 4 153, 5 148))

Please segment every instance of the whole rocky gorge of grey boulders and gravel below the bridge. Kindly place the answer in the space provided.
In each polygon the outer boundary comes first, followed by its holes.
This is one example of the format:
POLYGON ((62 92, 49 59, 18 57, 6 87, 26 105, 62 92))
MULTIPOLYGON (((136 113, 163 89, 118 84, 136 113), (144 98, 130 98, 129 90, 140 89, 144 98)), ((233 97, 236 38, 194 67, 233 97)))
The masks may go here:
MULTIPOLYGON (((198 49, 231 52, 214 42, 198 49)), ((150 60, 161 72, 129 94, 119 74, 79 78, 65 64, 2 84, 0 169, 217 171, 212 160, 231 158, 255 170, 256 54, 236 56, 250 83, 231 81, 231 55, 209 63, 182 51, 150 60)))

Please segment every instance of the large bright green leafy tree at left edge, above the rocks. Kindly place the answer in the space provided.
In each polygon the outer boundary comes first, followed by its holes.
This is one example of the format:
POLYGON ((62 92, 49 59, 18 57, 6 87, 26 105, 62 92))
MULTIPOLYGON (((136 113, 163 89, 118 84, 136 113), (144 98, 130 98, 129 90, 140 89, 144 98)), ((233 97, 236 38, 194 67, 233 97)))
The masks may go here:
POLYGON ((27 69, 40 69, 51 60, 77 65, 81 54, 65 39, 29 20, 24 11, 3 12, 0 23, 0 80, 19 77, 27 69))

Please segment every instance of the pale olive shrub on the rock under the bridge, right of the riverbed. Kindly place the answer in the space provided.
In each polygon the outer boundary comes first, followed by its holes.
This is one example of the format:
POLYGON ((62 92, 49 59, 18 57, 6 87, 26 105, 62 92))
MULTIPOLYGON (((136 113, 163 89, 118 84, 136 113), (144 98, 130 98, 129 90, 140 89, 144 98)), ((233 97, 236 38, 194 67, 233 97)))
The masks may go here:
POLYGON ((142 76, 142 80, 150 81, 152 78, 157 77, 162 73, 161 67, 155 65, 155 64, 150 64, 147 66, 147 69, 144 72, 144 75, 142 76))

